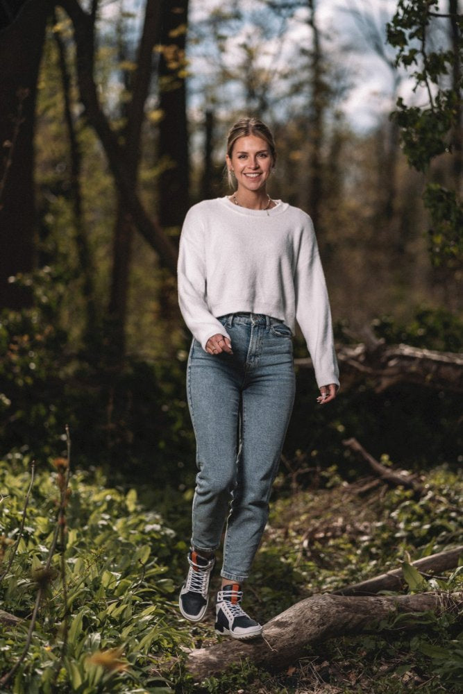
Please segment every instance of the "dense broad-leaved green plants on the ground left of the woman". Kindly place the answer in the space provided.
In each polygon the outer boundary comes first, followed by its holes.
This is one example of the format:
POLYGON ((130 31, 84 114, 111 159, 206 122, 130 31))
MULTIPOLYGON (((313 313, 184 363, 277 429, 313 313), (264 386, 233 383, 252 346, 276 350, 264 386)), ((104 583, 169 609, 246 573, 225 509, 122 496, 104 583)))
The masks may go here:
MULTIPOLYGON (((16 539, 27 464, 27 458, 14 454, 1 464, 3 548, 7 539, 16 539)), ((167 566, 174 560, 174 532, 158 514, 140 506, 134 489, 110 489, 99 473, 94 480, 76 473, 66 508, 65 546, 58 545, 49 575, 40 579, 56 526, 59 459, 56 465, 58 472, 48 468, 37 474, 24 535, 1 586, 3 608, 24 618, 14 629, 1 629, 1 672, 22 652, 37 586, 46 580, 33 641, 12 691, 171 691, 150 670, 154 654, 189 643, 171 618, 174 585, 167 566)))

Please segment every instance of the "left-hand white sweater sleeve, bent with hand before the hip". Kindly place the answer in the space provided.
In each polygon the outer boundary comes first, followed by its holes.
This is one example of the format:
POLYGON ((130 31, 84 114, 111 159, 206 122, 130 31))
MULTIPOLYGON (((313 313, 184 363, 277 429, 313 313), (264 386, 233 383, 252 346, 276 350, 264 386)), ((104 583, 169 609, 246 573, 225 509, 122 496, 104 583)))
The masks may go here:
POLYGON ((177 276, 180 311, 203 350, 212 335, 230 337, 208 307, 203 224, 193 209, 187 213, 180 235, 177 276))

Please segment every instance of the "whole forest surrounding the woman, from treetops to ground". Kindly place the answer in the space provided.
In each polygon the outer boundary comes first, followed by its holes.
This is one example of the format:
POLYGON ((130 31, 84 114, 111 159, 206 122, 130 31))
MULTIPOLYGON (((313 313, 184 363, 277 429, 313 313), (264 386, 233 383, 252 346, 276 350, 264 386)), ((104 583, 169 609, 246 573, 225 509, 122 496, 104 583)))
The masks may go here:
MULTIPOLYGON (((458 0, 0 3, 0 692, 463 688, 458 0), (267 123, 341 387, 296 401, 244 606, 178 611, 195 439, 176 268, 267 123)), ((212 578, 214 589, 219 575, 212 578)))

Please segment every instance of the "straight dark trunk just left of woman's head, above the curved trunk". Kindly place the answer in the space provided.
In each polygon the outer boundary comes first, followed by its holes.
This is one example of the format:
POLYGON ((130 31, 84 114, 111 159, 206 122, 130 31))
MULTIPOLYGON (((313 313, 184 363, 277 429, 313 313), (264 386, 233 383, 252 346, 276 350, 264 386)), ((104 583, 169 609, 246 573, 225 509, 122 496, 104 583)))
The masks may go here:
POLYGON ((165 0, 159 62, 158 158, 161 226, 180 226, 189 207, 189 157, 185 86, 188 0, 165 0))

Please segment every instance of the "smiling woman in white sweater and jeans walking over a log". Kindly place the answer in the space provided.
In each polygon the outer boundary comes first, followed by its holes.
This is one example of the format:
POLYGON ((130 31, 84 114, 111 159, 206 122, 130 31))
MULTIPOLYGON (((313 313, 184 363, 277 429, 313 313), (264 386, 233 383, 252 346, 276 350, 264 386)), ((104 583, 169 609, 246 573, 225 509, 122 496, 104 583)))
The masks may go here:
POLYGON ((179 606, 188 620, 203 618, 226 524, 215 629, 242 639, 262 632, 239 603, 294 402, 295 320, 310 350, 319 403, 335 398, 339 387, 312 221, 267 194, 275 163, 269 128, 239 120, 226 153, 235 192, 190 209, 178 260, 180 310, 194 336, 187 393, 199 469, 179 606))

